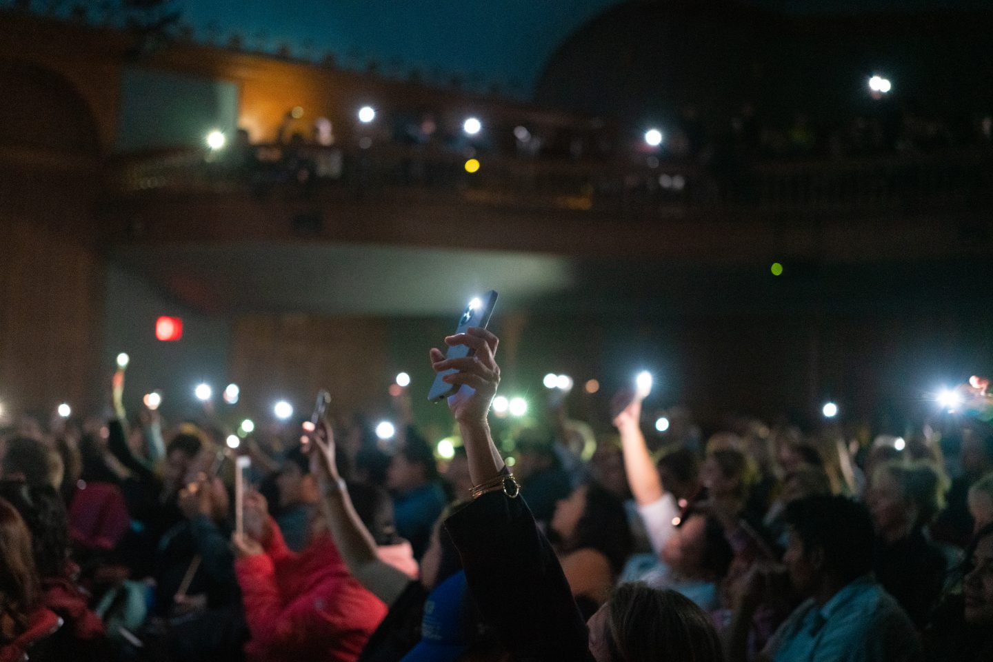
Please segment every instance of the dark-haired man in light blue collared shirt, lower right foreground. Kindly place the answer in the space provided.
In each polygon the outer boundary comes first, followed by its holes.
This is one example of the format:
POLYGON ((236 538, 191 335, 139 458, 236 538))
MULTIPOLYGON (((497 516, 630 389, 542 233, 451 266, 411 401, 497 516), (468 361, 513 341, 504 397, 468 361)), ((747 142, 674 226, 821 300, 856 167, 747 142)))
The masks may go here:
MULTIPOLYGON (((782 560, 789 583, 806 599, 780 625, 762 657, 921 659, 914 623, 872 576, 873 526, 865 507, 842 496, 812 496, 790 503, 785 520, 789 544, 782 560)), ((736 623, 749 621, 769 586, 750 584, 737 605, 736 623)), ((731 659, 744 659, 745 641, 731 637, 731 659)))

